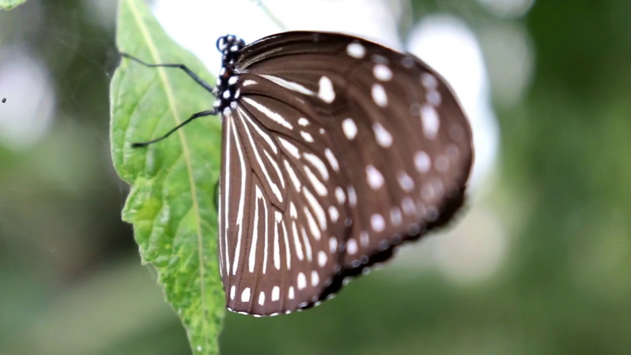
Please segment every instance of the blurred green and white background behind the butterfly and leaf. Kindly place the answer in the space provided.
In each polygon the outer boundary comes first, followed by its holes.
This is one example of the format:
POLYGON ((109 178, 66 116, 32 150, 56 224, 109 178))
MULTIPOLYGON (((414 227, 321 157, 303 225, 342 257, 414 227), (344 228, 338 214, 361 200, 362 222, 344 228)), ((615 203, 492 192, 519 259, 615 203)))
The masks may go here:
MULTIPOLYGON (((223 354, 628 354, 631 2, 153 1, 215 39, 340 30, 415 53, 474 129, 468 207, 314 310, 226 315, 223 354)), ((189 354, 121 222, 116 1, 0 11, 0 354, 189 354)), ((212 119, 212 118, 210 118, 212 119)))

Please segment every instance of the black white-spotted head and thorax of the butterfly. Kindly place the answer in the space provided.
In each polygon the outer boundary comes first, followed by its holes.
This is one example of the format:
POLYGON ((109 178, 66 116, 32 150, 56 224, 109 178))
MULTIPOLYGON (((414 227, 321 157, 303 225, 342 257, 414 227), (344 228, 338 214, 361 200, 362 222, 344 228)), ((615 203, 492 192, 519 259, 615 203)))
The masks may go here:
POLYGON ((245 46, 244 40, 235 35, 225 35, 217 39, 217 49, 221 52, 221 69, 217 78, 218 98, 215 107, 219 112, 239 99, 239 77, 235 74, 235 64, 245 46))

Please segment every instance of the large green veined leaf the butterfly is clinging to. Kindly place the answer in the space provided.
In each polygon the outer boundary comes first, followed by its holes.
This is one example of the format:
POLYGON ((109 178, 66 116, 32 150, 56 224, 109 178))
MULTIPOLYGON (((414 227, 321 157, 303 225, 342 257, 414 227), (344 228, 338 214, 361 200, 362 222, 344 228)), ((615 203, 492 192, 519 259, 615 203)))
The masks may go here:
MULTIPOLYGON (((148 63, 184 63, 215 82, 165 34, 142 0, 119 2, 116 42, 120 51, 148 63)), ((201 117, 148 147, 130 143, 161 136, 212 105, 211 94, 177 68, 148 68, 123 58, 110 85, 112 160, 131 184, 122 219, 133 224, 143 263, 157 270, 194 354, 218 353, 225 312, 215 207, 220 120, 201 117)))

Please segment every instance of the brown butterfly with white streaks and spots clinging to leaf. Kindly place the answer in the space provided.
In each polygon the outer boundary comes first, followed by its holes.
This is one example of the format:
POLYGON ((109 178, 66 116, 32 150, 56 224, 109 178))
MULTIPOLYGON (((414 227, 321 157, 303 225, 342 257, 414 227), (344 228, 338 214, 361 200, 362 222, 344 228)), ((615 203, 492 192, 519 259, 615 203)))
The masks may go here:
MULTIPOLYGON (((220 274, 228 310, 310 308, 463 205, 471 128, 449 85, 409 53, 333 32, 216 42, 222 119, 220 274)), ((211 236, 208 236, 211 238, 211 236)))

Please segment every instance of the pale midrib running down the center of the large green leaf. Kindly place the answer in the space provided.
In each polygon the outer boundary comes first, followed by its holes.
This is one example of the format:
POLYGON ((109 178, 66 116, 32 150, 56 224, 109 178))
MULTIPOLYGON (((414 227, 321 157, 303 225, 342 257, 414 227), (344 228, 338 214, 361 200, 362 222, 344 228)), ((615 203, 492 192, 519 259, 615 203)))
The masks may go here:
MULTIPOLYGON (((150 33, 148 32, 148 28, 144 26, 144 23, 141 20, 141 15, 138 11, 138 8, 136 8, 136 6, 134 5, 134 1, 127 0, 126 3, 129 6, 129 9, 131 9, 131 12, 134 15, 134 20, 136 21, 138 28, 140 28, 141 35, 143 36, 143 39, 145 40, 147 47, 149 48, 151 52, 153 63, 162 63, 162 59, 160 59, 160 54, 158 54, 158 49, 155 43, 153 42, 153 39, 151 38, 150 33)), ((175 97, 173 95, 172 87, 171 87, 170 82, 168 81, 165 69, 159 68, 159 67, 156 69, 158 71, 158 75, 160 76, 160 80, 163 83, 163 87, 167 95, 168 107, 173 114, 175 124, 176 125, 180 124, 182 122, 182 119, 180 118, 180 115, 175 109, 175 97)), ((186 162, 189 185, 191 186, 192 208, 194 212, 194 218, 196 220, 197 236, 198 236, 198 262, 199 262, 199 278, 200 278, 199 285, 200 285, 200 292, 201 292, 201 307, 204 312, 204 316, 206 316, 206 311, 207 311, 206 304, 205 304, 206 294, 204 290, 204 268, 203 268, 203 262, 202 262, 204 259, 202 255, 202 250, 203 250, 202 249, 202 234, 201 234, 201 221, 199 219, 199 205, 198 205, 197 191, 196 191, 197 189, 195 186, 195 181, 193 179, 191 153, 189 150, 188 142, 186 140, 186 135, 184 135, 184 131, 182 131, 182 129, 179 129, 177 131, 177 135, 179 136, 180 141, 182 143, 182 156, 184 157, 184 161, 186 162)), ((202 322, 202 323, 204 327, 204 331, 203 331, 204 338, 205 338, 204 340, 206 340, 206 344, 208 344, 208 338, 207 338, 208 332, 206 332, 206 322, 202 322)), ((193 344, 191 344, 191 346, 192 345, 193 344)))

